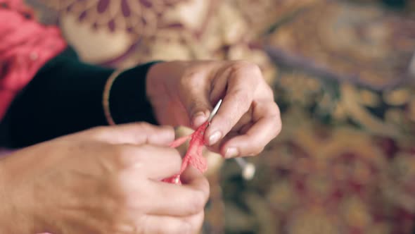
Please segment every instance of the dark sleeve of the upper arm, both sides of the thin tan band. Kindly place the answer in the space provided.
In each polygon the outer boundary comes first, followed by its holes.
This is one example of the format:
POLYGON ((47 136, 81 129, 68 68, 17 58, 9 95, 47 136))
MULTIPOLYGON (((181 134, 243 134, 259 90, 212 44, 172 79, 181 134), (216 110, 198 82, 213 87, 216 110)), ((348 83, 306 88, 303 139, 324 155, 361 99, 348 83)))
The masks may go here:
MULTIPOLYGON (((156 123, 146 98, 146 74, 152 65, 146 63, 126 70, 113 83, 110 111, 115 123, 156 123)), ((25 147, 108 125, 103 112, 103 90, 113 72, 66 54, 56 56, 11 104, 0 123, 1 145, 25 147)))

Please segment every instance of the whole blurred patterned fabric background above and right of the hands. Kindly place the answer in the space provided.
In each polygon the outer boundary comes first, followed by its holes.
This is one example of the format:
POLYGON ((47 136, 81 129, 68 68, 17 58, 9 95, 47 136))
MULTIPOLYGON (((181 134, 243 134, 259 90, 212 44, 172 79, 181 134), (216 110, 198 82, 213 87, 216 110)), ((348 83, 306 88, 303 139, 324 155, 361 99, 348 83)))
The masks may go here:
POLYGON ((253 180, 209 155, 203 233, 415 233, 414 0, 28 0, 80 58, 246 59, 283 131, 253 180))

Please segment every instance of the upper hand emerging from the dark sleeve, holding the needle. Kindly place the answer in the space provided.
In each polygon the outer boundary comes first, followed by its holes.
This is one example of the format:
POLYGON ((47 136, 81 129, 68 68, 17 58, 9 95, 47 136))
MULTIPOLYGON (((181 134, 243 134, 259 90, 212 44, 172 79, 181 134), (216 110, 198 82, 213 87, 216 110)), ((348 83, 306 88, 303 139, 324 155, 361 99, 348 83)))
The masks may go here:
POLYGON ((166 62, 148 72, 159 123, 196 128, 223 103, 205 140, 226 158, 259 154, 281 130, 279 108, 260 68, 243 61, 166 62))

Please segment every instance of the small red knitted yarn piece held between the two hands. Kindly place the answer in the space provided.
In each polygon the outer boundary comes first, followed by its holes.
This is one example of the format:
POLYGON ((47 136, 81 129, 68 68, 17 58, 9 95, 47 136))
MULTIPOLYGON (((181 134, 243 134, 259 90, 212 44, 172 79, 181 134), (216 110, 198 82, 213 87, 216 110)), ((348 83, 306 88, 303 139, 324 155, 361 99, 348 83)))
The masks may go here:
POLYGON ((208 163, 202 154, 203 147, 205 146, 205 130, 208 128, 209 122, 206 121, 201 125, 194 133, 189 136, 181 137, 174 142, 170 143, 170 147, 176 148, 191 138, 189 143, 189 149, 187 149, 184 155, 183 161, 181 162, 181 168, 177 175, 170 178, 165 178, 164 182, 181 184, 180 175, 183 173, 189 164, 197 168, 200 172, 205 172, 208 169, 208 163))

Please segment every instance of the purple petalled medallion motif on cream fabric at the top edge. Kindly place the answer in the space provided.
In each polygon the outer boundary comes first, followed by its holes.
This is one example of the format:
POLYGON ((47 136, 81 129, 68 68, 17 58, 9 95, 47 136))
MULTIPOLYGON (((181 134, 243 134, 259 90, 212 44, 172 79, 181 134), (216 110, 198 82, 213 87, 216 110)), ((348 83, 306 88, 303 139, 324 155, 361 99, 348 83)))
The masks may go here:
POLYGON ((75 14, 79 22, 86 21, 95 29, 107 27, 111 32, 125 30, 148 35, 157 28, 174 27, 175 22, 165 20, 162 13, 180 1, 184 0, 63 0, 45 3, 62 13, 75 14))

